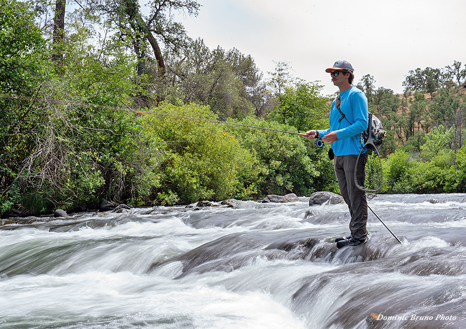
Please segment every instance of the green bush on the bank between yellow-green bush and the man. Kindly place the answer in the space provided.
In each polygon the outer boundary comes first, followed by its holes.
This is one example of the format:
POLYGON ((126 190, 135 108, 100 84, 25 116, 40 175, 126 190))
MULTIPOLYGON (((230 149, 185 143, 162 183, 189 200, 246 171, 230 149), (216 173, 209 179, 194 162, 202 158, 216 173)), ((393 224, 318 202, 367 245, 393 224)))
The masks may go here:
MULTIPOLYGON (((296 131, 291 126, 252 117, 239 123, 296 131)), ((321 189, 335 189, 333 165, 327 157, 328 146, 318 151, 314 143, 298 136, 248 127, 235 128, 234 134, 259 160, 262 168, 258 181, 260 194, 309 195, 321 189)))

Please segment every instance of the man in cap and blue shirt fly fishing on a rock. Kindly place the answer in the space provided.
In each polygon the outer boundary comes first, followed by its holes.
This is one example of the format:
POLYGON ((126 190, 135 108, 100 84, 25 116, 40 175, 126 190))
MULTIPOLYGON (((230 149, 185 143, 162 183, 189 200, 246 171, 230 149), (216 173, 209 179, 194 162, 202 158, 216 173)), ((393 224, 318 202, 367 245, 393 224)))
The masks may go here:
MULTIPOLYGON (((366 96, 361 90, 352 86, 353 71, 352 65, 345 60, 338 60, 333 67, 325 70, 330 73, 333 85, 340 91, 330 109, 330 128, 309 130, 306 134, 300 134, 309 140, 321 137, 322 141, 330 144, 333 149, 333 167, 338 186, 351 214, 351 235, 336 238, 337 248, 356 246, 367 240, 367 199, 365 192, 356 186, 354 173, 356 160, 363 146, 360 133, 367 129, 369 119, 366 96)), ((363 164, 365 161, 367 154, 363 164)), ((360 185, 364 184, 363 179, 364 165, 358 172, 360 185)))

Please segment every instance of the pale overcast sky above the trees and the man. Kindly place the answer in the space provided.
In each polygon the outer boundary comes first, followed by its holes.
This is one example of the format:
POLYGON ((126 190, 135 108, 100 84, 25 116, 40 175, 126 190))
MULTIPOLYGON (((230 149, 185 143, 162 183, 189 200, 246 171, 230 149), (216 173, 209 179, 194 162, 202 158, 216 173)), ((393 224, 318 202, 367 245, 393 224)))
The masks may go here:
POLYGON ((267 76, 287 61, 293 76, 336 87, 325 69, 344 59, 355 84, 401 93, 410 70, 466 63, 466 0, 197 0, 197 17, 177 17, 210 48, 237 48, 267 76))

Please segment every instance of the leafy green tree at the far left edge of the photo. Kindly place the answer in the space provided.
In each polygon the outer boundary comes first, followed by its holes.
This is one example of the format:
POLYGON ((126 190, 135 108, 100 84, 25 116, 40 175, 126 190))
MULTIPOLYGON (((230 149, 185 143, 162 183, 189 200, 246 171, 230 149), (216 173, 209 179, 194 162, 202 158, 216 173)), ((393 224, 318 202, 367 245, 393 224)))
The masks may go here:
POLYGON ((34 147, 42 116, 30 97, 47 77, 46 41, 31 3, 0 0, 0 214, 19 200, 15 178, 34 147))

